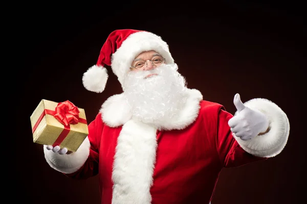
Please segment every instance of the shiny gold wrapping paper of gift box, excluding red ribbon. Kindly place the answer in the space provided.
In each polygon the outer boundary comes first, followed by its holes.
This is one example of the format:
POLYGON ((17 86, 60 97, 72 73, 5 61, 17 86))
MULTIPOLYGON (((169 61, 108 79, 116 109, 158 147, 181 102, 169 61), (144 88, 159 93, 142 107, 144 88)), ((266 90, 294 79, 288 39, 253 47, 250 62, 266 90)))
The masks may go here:
MULTIPOLYGON (((30 116, 32 132, 35 123, 39 119, 40 115, 45 111, 45 109, 54 111, 57 105, 58 103, 51 100, 42 99, 40 101, 30 116)), ((79 118, 86 120, 84 109, 78 109, 80 111, 79 118)), ((53 145, 63 129, 64 125, 62 123, 60 123, 52 115, 46 114, 43 116, 33 133, 33 142, 38 144, 53 145)), ((66 147, 70 151, 76 151, 87 135, 89 135, 87 124, 81 122, 78 124, 70 124, 70 131, 59 146, 61 148, 66 147)))

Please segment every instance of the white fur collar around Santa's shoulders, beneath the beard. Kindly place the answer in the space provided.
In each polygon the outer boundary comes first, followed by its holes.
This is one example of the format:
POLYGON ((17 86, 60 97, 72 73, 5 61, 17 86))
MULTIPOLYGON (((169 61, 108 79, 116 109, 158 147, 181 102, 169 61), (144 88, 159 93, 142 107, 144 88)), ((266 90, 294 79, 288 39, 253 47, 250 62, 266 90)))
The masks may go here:
MULTIPOLYGON (((176 119, 156 124, 158 130, 181 130, 196 119, 203 95, 196 89, 188 89, 187 94, 186 104, 180 112, 180 116, 176 119)), ((123 93, 109 97, 103 103, 99 112, 102 113, 102 120, 110 127, 121 126, 132 117, 123 93)))

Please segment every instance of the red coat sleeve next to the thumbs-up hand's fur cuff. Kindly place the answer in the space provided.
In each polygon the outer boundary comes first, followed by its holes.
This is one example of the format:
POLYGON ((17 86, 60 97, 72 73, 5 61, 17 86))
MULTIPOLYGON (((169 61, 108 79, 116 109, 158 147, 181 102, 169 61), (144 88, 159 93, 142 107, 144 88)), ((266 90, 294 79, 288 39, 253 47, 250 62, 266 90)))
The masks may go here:
POLYGON ((225 111, 223 107, 218 111, 216 148, 223 167, 237 167, 251 162, 266 160, 267 158, 256 157, 246 152, 232 136, 228 120, 233 115, 225 111))

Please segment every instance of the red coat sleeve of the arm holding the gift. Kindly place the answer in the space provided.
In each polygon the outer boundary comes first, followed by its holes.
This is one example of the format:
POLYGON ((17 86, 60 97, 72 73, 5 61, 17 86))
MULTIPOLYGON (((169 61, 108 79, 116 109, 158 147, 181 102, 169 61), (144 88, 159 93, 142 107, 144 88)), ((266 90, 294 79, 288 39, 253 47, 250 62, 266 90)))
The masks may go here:
POLYGON ((87 158, 78 171, 65 175, 73 179, 87 179, 98 174, 99 146, 103 127, 104 124, 101 119, 101 113, 99 113, 95 120, 89 124, 89 135, 87 136, 91 144, 89 158, 87 158))

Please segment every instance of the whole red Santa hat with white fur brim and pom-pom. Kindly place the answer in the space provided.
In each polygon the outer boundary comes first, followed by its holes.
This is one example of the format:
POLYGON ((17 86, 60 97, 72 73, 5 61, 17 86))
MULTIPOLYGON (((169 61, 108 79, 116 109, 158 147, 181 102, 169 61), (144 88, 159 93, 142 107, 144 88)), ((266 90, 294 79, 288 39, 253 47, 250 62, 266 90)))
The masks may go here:
POLYGON ((155 50, 161 54, 166 64, 174 63, 168 44, 160 36, 131 29, 113 31, 103 44, 96 65, 83 74, 83 86, 89 91, 101 93, 108 79, 105 65, 112 67, 122 85, 125 74, 130 70, 135 57, 149 50, 155 50))

